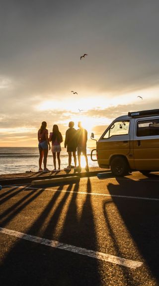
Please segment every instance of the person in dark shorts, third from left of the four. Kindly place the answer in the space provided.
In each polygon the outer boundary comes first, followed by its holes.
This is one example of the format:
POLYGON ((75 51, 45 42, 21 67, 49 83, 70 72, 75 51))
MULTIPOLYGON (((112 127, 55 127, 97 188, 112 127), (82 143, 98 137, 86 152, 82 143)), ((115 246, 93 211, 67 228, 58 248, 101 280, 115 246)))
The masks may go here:
POLYGON ((77 130, 74 128, 74 122, 69 122, 69 129, 66 131, 65 137, 65 148, 67 147, 67 152, 69 155, 69 166, 64 169, 64 171, 71 171, 71 162, 72 162, 72 153, 75 162, 75 171, 77 169, 77 158, 76 158, 76 151, 77 151, 77 130))

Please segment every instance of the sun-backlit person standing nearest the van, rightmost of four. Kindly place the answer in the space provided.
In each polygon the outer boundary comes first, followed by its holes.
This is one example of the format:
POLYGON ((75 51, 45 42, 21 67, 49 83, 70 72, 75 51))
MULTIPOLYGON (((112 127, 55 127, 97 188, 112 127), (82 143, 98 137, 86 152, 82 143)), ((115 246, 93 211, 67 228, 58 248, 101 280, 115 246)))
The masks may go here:
POLYGON ((89 172, 89 167, 88 167, 88 159, 86 155, 86 142, 87 142, 87 131, 82 127, 81 122, 79 121, 78 123, 79 129, 77 130, 77 149, 78 149, 78 161, 79 161, 79 166, 78 169, 81 171, 81 166, 80 166, 80 156, 81 153, 85 158, 86 166, 85 166, 85 171, 89 172))

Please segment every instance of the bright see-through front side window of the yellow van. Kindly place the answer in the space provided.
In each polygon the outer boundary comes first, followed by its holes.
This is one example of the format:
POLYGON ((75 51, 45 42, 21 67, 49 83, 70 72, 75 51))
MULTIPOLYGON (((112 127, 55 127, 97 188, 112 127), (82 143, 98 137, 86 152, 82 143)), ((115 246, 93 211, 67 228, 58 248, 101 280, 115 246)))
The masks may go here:
POLYGON ((108 139, 109 137, 114 136, 114 135, 128 135, 129 124, 130 124, 130 120, 114 122, 109 127, 107 132, 104 134, 102 139, 108 139))

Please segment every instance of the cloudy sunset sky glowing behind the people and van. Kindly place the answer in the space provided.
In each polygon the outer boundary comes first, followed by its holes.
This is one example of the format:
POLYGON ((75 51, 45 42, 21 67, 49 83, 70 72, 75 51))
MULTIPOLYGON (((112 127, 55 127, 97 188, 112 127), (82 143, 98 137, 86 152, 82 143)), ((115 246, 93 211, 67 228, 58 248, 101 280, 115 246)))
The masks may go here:
POLYGON ((37 146, 42 121, 64 139, 81 121, 98 139, 114 118, 153 108, 158 0, 0 0, 1 147, 37 146))

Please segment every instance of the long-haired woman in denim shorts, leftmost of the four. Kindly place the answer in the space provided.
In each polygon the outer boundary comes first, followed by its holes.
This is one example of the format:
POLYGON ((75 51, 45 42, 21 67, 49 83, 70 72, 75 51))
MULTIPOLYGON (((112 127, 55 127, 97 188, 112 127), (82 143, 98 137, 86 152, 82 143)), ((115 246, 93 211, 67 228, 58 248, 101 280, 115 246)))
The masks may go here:
POLYGON ((47 164, 47 156, 48 156, 48 146, 50 150, 50 142, 48 139, 48 129, 46 129, 47 123, 46 121, 43 121, 41 123, 41 127, 38 130, 38 141, 39 141, 39 172, 49 172, 49 170, 46 168, 47 164), (44 158, 44 159, 43 159, 44 158), (44 164, 44 170, 41 168, 42 161, 44 164))

